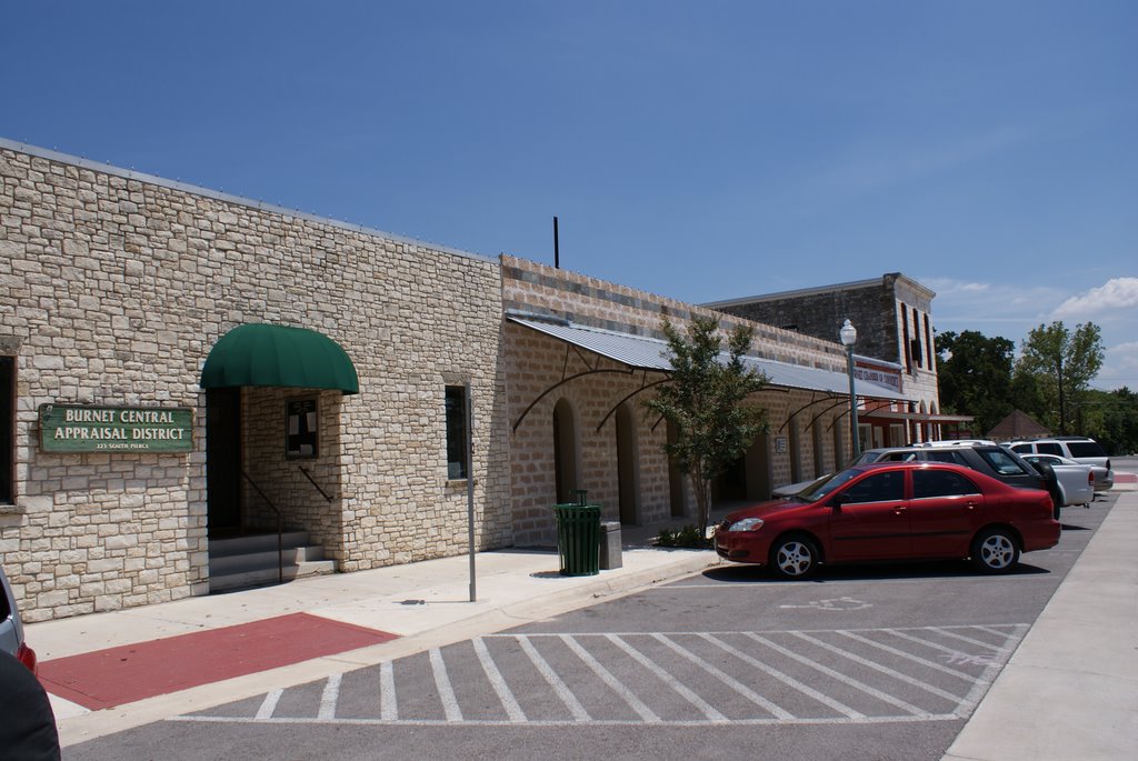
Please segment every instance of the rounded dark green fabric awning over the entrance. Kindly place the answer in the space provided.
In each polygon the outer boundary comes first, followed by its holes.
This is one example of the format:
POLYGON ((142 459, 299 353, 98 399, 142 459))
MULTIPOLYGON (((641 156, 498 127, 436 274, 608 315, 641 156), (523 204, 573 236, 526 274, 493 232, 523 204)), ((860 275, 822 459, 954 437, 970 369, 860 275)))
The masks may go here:
POLYGON ((273 386, 360 392, 360 378, 339 344, 306 328, 251 323, 229 331, 201 369, 201 388, 273 386))

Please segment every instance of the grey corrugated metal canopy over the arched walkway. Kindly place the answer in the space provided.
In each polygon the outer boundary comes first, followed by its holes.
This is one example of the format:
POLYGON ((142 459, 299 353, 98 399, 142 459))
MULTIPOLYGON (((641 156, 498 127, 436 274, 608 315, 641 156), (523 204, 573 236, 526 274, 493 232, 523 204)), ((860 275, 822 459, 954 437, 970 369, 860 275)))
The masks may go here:
MULTIPOLYGON (((615 362, 626 364, 629 367, 658 372, 668 372, 671 370, 668 344, 660 339, 633 336, 630 333, 618 333, 600 328, 575 325, 567 321, 554 322, 511 314, 506 315, 506 320, 608 357, 615 362)), ((792 365, 786 362, 751 356, 743 357, 743 362, 749 367, 762 372, 772 386, 806 389, 808 391, 825 391, 833 395, 849 395, 849 375, 846 373, 822 370, 819 367, 792 365)), ((910 400, 887 386, 866 380, 856 380, 855 390, 858 396, 867 398, 889 399, 892 402, 910 400)))

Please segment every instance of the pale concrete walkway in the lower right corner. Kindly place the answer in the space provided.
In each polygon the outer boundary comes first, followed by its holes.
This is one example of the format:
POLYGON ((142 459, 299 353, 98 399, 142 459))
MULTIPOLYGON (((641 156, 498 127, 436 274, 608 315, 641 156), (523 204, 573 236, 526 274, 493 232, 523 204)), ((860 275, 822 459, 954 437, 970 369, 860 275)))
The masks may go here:
POLYGON ((1138 759, 1138 493, 1115 489, 946 761, 1138 759))

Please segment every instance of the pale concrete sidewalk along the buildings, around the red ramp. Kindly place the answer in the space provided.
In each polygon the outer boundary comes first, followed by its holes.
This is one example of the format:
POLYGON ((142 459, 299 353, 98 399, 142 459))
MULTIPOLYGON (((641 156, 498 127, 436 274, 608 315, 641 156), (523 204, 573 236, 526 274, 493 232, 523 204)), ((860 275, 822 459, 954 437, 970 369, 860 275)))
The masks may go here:
MULTIPOLYGON (((716 515, 719 515, 717 511, 716 515)), ((715 516, 712 516, 715 518, 715 516)), ((657 527, 625 529, 621 568, 564 577, 551 549, 504 549, 300 579, 26 626, 41 663, 110 647, 221 629, 289 613, 398 635, 390 642, 240 676, 113 709, 89 711, 51 695, 64 746, 189 711, 322 679, 404 655, 541 621, 719 564, 708 551, 659 548, 657 527)))

